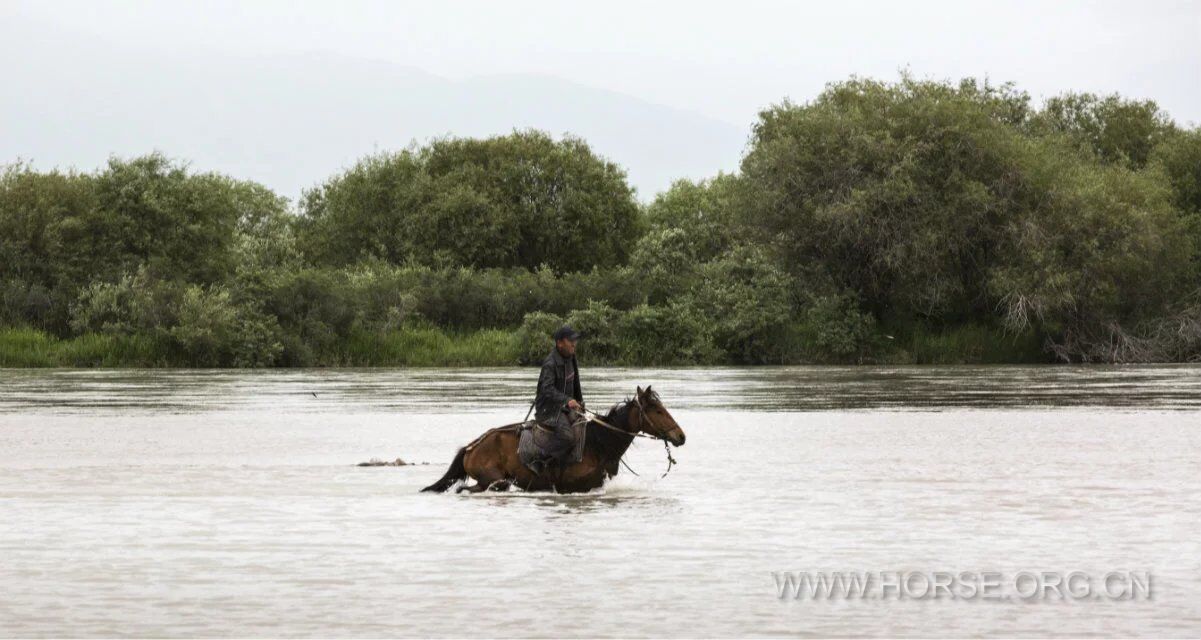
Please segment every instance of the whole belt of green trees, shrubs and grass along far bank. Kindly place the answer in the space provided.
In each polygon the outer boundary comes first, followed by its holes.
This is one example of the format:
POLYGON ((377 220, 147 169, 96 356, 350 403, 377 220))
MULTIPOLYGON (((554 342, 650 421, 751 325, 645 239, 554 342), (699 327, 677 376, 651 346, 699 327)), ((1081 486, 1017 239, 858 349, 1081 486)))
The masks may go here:
POLYGON ((1201 130, 853 78, 639 203, 580 139, 363 158, 291 204, 159 154, 0 175, 0 366, 1201 359, 1201 130))

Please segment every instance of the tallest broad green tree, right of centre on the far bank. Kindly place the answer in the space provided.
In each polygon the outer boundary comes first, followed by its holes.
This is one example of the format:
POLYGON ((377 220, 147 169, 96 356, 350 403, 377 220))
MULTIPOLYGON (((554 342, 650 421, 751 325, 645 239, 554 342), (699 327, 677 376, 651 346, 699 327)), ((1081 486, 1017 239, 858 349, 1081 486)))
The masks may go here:
POLYGON ((784 102, 754 127, 739 213, 794 275, 882 318, 987 313, 981 273, 1026 103, 1009 86, 908 77, 784 102))

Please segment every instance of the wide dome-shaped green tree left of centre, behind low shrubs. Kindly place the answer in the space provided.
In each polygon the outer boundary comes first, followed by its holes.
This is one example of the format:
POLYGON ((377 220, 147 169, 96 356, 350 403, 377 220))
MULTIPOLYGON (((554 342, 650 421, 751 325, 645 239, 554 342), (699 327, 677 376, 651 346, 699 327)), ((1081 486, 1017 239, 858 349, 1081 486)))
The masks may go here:
POLYGON ((309 192, 301 247, 317 264, 622 264, 640 233, 625 173, 579 138, 446 138, 360 161, 309 192))

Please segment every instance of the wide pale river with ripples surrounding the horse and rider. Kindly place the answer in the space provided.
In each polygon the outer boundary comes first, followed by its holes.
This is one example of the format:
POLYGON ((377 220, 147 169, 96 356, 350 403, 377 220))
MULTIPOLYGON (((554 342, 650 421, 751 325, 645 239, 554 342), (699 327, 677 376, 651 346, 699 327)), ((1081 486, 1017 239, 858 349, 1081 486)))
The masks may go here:
POLYGON ((592 407, 659 391, 665 478, 638 441, 594 494, 419 494, 530 369, 0 370, 0 635, 1201 634, 1201 367, 581 373, 592 407), (1021 593, 1070 572, 1088 597, 1021 593))

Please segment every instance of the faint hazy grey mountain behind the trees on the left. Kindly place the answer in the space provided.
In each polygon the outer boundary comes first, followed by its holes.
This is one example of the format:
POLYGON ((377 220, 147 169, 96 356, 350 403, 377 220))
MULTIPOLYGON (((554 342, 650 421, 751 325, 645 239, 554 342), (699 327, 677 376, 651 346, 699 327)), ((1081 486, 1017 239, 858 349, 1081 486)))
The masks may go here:
POLYGON ((0 163, 91 169, 110 154, 157 149, 295 199, 372 151, 526 127, 587 139, 626 167, 641 199, 677 178, 736 168, 747 137, 728 122, 554 77, 450 80, 319 53, 154 56, 136 44, 0 25, 0 163))

